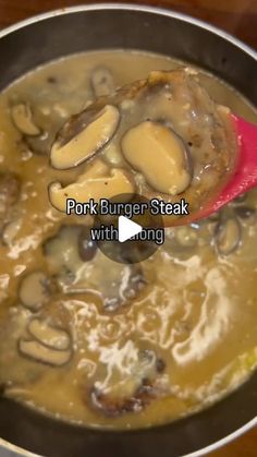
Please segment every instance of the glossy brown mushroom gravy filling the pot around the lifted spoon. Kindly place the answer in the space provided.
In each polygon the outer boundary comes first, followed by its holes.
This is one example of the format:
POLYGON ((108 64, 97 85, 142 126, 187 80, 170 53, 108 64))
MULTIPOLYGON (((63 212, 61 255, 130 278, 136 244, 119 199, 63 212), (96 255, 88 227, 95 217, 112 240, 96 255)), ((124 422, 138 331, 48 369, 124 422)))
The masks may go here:
MULTIPOLYGON (((62 124, 97 94, 178 65, 163 56, 88 52, 0 95, 0 385, 61 420, 167 423, 228 395, 257 365, 256 191, 167 229, 152 257, 122 266, 88 242, 86 218, 48 199, 51 182, 78 175, 49 165, 62 124)), ((200 81, 217 103, 257 119, 231 87, 204 72, 200 81)), ((109 159, 115 164, 113 151, 109 159)))

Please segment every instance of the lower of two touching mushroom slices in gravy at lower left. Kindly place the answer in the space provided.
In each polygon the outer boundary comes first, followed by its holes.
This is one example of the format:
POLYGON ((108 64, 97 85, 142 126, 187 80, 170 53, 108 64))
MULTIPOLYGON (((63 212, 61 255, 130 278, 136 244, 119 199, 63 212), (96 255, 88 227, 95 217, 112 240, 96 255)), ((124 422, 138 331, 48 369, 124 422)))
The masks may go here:
POLYGON ((51 349, 33 339, 21 338, 17 347, 22 356, 51 366, 65 365, 72 357, 71 350, 51 349))

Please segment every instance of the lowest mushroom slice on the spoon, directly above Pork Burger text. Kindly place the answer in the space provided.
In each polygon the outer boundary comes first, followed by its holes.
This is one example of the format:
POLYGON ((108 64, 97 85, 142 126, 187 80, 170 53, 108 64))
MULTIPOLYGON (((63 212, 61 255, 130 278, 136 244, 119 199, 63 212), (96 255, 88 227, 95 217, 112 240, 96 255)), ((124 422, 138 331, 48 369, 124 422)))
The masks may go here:
POLYGON ((87 171, 81 175, 76 182, 65 188, 59 182, 49 185, 49 199, 54 208, 65 212, 68 199, 86 203, 93 199, 99 202, 100 199, 111 199, 114 195, 132 194, 135 191, 132 176, 123 169, 113 168, 109 176, 90 177, 87 171))

